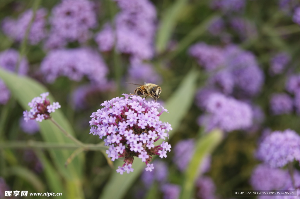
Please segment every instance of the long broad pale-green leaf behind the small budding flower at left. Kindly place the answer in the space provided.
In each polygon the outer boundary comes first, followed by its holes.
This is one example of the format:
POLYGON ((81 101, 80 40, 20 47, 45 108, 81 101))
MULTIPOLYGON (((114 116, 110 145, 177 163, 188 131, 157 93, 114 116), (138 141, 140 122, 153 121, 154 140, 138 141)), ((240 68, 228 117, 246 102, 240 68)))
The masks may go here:
MULTIPOLYGON (((37 81, 28 77, 17 76, 11 72, 1 69, 1 67, 0 78, 5 82, 7 87, 10 89, 10 92, 12 92, 13 97, 16 98, 18 103, 25 110, 29 109, 28 102, 30 102, 34 97, 39 96, 43 92, 48 92, 48 90, 37 81)), ((51 102, 55 101, 51 94, 48 97, 51 102)), ((68 133, 74 135, 72 126, 67 121, 61 110, 56 110, 55 113, 52 114, 52 118, 68 133)), ((39 125, 41 135, 46 142, 73 143, 70 139, 65 137, 58 127, 51 121, 45 120, 39 123, 39 125)), ((78 198, 83 197, 82 187, 80 185, 83 164, 82 156, 76 157, 73 162, 68 165, 68 168, 65 168, 64 163, 72 152, 67 150, 49 150, 49 152, 58 171, 67 180, 67 186, 76 186, 74 189, 77 191, 76 193, 80 194, 78 195, 78 198)))

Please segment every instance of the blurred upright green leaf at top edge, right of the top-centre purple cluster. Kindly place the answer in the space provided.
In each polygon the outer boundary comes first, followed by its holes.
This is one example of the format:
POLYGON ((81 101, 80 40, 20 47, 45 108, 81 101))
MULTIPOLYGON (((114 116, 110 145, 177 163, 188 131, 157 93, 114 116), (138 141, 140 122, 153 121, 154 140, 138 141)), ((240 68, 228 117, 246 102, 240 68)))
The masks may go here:
POLYGON ((171 34, 173 33, 176 23, 180 17, 178 13, 181 13, 186 3, 187 0, 177 0, 166 10, 162 17, 156 40, 156 50, 158 53, 166 50, 171 34))

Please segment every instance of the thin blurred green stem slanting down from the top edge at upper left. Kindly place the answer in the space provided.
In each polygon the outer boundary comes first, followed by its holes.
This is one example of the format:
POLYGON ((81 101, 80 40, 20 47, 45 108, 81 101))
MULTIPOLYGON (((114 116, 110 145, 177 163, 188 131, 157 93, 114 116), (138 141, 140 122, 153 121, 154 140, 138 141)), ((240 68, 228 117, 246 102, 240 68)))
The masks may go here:
POLYGON ((27 48, 27 40, 28 40, 29 32, 30 32, 32 23, 35 20, 36 11, 37 11, 40 3, 41 3, 41 0, 35 0, 34 3, 33 3, 33 6, 32 6, 33 7, 32 8, 33 15, 32 15, 32 18, 31 18, 31 20, 30 20, 30 22, 29 22, 29 24, 26 28, 26 32, 25 32, 24 38, 23 38, 22 43, 21 43, 20 55, 19 55, 18 63, 16 64, 16 69, 15 69, 16 73, 18 73, 19 65, 20 65, 23 57, 26 56, 26 48, 27 48))

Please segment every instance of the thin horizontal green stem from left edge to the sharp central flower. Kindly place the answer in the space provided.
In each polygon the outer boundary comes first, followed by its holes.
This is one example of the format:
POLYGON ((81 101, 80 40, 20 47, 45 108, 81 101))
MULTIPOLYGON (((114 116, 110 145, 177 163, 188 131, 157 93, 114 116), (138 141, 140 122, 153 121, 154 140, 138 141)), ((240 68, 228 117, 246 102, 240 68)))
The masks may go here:
POLYGON ((68 149, 74 150, 82 148, 89 151, 101 151, 107 150, 107 146, 103 144, 86 144, 85 147, 79 147, 72 143, 51 143, 51 142, 39 142, 39 141, 17 141, 17 142, 0 142, 0 149, 6 148, 33 148, 33 149, 68 149))

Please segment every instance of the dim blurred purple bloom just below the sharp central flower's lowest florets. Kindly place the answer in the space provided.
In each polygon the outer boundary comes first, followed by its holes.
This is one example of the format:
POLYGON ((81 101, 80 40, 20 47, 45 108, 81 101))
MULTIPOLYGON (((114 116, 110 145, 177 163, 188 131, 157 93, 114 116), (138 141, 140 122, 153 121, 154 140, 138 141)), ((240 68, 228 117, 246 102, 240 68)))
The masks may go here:
POLYGON ((153 171, 147 172, 144 170, 141 176, 146 188, 150 188, 154 181, 159 183, 164 183, 167 181, 169 174, 167 164, 161 160, 154 160, 153 164, 155 165, 153 171))

